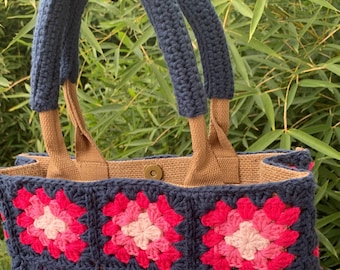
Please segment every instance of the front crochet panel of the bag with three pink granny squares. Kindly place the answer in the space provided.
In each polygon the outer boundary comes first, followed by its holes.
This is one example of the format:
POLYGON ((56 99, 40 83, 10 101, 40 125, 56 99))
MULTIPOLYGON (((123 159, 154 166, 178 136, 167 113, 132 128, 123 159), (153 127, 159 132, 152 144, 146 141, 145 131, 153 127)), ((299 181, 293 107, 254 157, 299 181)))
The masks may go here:
POLYGON ((2 175, 0 189, 13 269, 319 269, 311 174, 198 188, 2 175))

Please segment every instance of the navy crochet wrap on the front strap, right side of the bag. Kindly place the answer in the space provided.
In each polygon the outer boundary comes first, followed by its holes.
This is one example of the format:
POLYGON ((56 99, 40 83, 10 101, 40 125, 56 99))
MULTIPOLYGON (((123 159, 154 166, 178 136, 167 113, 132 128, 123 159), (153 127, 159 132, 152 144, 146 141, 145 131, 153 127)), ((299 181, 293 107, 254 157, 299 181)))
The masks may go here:
POLYGON ((141 0, 167 62, 179 114, 195 117, 206 113, 206 94, 180 6, 173 0, 141 0))

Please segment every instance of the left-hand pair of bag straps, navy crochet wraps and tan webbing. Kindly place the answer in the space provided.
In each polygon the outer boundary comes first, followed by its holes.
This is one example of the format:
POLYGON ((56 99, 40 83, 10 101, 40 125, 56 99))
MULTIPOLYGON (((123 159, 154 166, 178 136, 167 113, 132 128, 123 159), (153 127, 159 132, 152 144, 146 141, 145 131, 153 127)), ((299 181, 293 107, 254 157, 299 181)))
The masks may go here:
MULTIPOLYGON (((66 91, 70 118, 75 126, 76 159, 67 152, 58 113, 59 85, 78 77, 78 43, 86 0, 42 0, 34 30, 31 68, 31 107, 39 112, 46 151, 48 178, 77 181, 109 177, 105 159, 85 128, 75 91, 66 91)), ((70 89, 65 84, 65 89, 70 89)))

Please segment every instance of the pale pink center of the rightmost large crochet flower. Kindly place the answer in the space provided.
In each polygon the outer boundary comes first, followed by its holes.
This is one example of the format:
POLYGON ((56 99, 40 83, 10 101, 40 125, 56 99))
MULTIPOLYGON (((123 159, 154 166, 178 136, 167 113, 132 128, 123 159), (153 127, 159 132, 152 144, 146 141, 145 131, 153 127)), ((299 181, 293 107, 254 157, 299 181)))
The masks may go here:
POLYGON ((257 251, 269 246, 270 241, 262 237, 253 227, 252 222, 244 221, 232 235, 224 237, 225 242, 237 248, 245 260, 254 260, 257 251))

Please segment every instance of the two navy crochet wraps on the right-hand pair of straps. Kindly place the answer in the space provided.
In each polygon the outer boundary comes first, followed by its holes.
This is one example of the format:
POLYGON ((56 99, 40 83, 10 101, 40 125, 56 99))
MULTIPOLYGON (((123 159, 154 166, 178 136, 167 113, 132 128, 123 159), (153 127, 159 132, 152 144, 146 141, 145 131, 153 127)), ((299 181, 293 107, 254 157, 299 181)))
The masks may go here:
POLYGON ((186 117, 204 114, 206 97, 231 99, 234 87, 228 47, 210 0, 141 1, 168 64, 179 114, 186 117), (205 91, 183 14, 198 41, 205 91))

